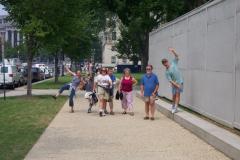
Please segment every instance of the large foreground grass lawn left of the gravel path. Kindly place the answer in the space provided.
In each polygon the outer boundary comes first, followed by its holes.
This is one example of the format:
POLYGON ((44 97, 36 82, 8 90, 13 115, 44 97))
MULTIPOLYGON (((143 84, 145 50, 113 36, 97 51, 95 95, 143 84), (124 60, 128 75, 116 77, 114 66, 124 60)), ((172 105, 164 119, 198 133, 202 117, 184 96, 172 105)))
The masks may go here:
POLYGON ((67 97, 50 96, 0 98, 0 159, 23 159, 67 97))

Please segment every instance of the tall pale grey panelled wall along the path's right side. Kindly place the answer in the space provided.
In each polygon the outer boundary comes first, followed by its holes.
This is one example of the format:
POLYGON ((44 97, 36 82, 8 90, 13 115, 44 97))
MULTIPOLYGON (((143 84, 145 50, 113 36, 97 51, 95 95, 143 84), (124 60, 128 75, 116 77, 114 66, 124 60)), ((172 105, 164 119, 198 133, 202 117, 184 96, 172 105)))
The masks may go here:
POLYGON ((162 58, 180 54, 181 104, 222 124, 240 128, 240 0, 215 0, 150 33, 150 64, 160 94, 171 98, 162 58))

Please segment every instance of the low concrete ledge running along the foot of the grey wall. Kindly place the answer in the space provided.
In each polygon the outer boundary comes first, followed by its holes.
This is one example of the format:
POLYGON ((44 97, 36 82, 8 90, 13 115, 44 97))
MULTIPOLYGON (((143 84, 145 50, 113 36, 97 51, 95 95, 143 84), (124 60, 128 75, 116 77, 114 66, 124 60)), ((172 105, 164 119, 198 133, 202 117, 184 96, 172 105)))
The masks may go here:
MULTIPOLYGON (((136 93, 136 96, 143 100, 139 92, 136 93)), ((171 113, 171 104, 162 100, 156 101, 156 107, 162 114, 191 131, 228 157, 240 160, 239 136, 185 111, 173 115, 171 113)))

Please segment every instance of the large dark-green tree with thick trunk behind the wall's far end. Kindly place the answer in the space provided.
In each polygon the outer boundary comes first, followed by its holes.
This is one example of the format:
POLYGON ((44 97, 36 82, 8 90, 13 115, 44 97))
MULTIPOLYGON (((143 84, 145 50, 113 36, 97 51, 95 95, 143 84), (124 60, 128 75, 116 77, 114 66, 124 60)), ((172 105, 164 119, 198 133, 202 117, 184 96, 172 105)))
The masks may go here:
POLYGON ((129 51, 134 58, 141 57, 142 69, 145 69, 149 59, 149 32, 176 18, 184 6, 179 0, 108 0, 105 3, 127 28, 122 35, 127 38, 127 33, 128 41, 120 39, 118 49, 131 48, 129 51))

